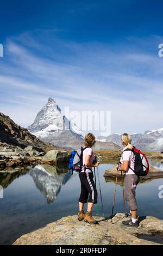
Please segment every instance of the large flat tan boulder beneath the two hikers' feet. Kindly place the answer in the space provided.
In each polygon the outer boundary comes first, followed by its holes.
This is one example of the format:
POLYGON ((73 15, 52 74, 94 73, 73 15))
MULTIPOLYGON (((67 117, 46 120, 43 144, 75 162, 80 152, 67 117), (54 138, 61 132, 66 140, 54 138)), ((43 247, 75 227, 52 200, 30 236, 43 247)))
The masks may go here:
POLYGON ((122 225, 124 214, 110 219, 95 217, 97 225, 79 222, 77 215, 63 217, 32 233, 22 235, 13 245, 162 245, 163 220, 139 217, 138 228, 122 225))

